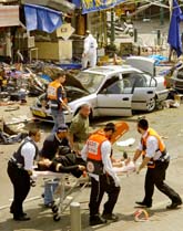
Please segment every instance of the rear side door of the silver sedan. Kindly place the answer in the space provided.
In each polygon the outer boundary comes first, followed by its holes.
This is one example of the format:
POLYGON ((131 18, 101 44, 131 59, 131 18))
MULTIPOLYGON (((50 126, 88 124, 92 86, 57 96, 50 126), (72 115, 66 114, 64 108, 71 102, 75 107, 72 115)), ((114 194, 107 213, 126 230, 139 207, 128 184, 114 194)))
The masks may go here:
POLYGON ((149 103, 155 98, 155 78, 138 72, 124 74, 123 78, 133 85, 132 109, 148 111, 149 103))

